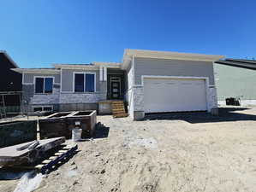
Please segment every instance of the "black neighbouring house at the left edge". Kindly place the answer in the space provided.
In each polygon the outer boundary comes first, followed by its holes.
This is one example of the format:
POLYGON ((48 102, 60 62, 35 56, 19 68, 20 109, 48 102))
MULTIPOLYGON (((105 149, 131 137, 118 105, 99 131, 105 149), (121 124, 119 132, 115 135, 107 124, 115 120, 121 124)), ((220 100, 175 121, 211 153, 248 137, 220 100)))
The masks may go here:
MULTIPOLYGON (((19 67, 4 50, 0 50, 0 66, 0 91, 21 91, 22 76, 20 73, 11 70, 11 68, 19 67)), ((9 106, 20 106, 20 96, 18 95, 4 96, 4 100, 7 108, 9 106)), ((2 102, 2 96, 0 102, 2 102)))

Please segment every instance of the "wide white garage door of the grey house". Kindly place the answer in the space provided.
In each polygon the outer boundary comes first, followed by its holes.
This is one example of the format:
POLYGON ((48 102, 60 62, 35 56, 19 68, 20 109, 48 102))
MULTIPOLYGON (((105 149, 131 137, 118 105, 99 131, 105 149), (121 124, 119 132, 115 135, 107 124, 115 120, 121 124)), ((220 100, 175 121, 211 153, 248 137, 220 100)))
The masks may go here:
POLYGON ((204 79, 144 79, 146 113, 205 111, 204 79))

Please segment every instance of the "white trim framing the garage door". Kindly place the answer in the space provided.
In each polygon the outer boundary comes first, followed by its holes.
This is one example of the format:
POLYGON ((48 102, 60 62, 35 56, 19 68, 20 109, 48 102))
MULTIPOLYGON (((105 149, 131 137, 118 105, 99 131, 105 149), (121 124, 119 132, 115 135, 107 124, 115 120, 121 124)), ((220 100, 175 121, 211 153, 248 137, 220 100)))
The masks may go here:
POLYGON ((208 77, 142 75, 141 76, 141 83, 142 83, 141 85, 143 87, 144 87, 144 79, 200 79, 200 80, 205 80, 206 109, 209 112, 209 108, 208 108, 209 78, 208 77))

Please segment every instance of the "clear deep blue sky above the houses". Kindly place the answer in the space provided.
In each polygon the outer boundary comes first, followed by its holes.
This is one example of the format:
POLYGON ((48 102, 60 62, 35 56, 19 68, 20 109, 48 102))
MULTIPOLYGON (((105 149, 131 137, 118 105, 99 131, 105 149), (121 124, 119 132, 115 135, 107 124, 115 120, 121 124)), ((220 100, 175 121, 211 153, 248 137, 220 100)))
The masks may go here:
POLYGON ((256 58, 255 1, 5 0, 0 49, 20 67, 122 61, 123 49, 256 58))

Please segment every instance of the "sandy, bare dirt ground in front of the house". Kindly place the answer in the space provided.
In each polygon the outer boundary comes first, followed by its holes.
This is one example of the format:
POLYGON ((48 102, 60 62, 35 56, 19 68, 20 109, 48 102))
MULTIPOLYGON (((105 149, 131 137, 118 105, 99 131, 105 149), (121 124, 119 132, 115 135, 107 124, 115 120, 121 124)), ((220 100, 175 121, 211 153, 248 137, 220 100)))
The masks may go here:
MULTIPOLYGON (((98 116, 98 138, 78 143, 35 191, 256 191, 256 108, 149 119, 98 116)), ((0 181, 0 191, 18 182, 0 181)))

